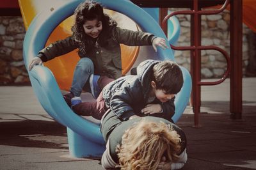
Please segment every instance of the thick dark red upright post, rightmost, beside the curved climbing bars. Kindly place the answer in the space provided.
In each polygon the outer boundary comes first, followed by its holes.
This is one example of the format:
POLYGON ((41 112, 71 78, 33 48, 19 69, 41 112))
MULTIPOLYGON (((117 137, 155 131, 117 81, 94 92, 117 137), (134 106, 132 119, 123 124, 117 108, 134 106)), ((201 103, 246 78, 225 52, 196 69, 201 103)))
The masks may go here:
POLYGON ((241 119, 243 109, 243 1, 230 2, 230 118, 241 119))

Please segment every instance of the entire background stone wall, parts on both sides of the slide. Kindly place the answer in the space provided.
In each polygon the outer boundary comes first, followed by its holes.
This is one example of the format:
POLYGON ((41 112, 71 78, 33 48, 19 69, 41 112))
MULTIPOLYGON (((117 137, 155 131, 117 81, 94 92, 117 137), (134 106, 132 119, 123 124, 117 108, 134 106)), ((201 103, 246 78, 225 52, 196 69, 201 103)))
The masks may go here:
MULTIPOLYGON (((172 10, 172 9, 171 9, 172 10)), ((177 9, 175 10, 184 10, 177 9)), ((190 15, 177 15, 181 33, 176 46, 190 44, 190 15)), ((202 45, 216 45, 229 53, 229 12, 219 15, 202 15, 202 45)), ((0 85, 30 84, 22 58, 22 45, 26 30, 21 17, 0 16, 0 85)), ((256 76, 255 33, 243 26, 243 75, 256 76), (254 37, 254 38, 253 38, 254 37), (249 71, 248 71, 249 70, 249 71)), ((175 51, 179 65, 190 70, 190 52, 175 51)), ((215 50, 202 50, 202 79, 220 78, 227 63, 215 50)))

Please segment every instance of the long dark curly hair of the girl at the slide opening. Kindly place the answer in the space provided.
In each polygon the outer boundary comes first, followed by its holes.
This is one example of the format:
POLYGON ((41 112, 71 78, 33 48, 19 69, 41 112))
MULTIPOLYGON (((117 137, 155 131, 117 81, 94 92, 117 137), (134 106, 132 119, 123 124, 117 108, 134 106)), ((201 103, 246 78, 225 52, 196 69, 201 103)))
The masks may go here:
POLYGON ((85 54, 95 45, 95 40, 84 33, 83 24, 86 20, 97 19, 102 22, 102 31, 97 42, 99 45, 106 45, 111 26, 116 26, 115 20, 112 20, 103 12, 103 7, 94 1, 84 1, 77 6, 74 15, 76 16, 75 24, 72 27, 74 40, 79 44, 79 52, 85 54))

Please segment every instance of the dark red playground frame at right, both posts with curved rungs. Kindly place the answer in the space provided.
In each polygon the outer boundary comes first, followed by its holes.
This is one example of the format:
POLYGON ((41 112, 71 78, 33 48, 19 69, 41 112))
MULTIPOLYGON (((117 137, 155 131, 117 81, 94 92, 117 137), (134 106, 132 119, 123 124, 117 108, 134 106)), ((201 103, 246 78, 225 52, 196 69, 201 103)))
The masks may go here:
MULTIPOLYGON (((183 0, 185 1, 185 0, 183 0)), ((209 86, 216 85, 223 82, 228 75, 230 75, 230 118, 232 119, 241 119, 242 118, 242 23, 243 23, 243 13, 242 9, 248 9, 245 12, 244 21, 249 24, 250 27, 255 31, 255 22, 252 21, 253 9, 255 6, 250 8, 250 5, 253 5, 255 1, 245 0, 244 6, 242 0, 220 0, 220 1, 200 1, 193 0, 188 1, 186 5, 182 4, 180 1, 172 1, 172 4, 165 4, 161 7, 187 7, 191 8, 188 11, 174 12, 170 15, 167 15, 164 19, 163 16, 166 15, 166 12, 163 12, 162 19, 163 22, 161 26, 166 33, 166 20, 169 17, 177 14, 189 14, 191 15, 191 46, 190 47, 174 47, 175 50, 191 50, 191 77, 193 78, 193 93, 191 96, 191 103, 193 105, 193 112, 195 114, 194 121, 195 126, 200 126, 199 123, 199 114, 200 114, 200 105, 201 105, 201 88, 200 86, 209 86), (219 10, 204 11, 202 8, 216 6, 223 4, 219 10), (229 6, 228 6, 229 4, 229 6), (201 45, 201 15, 213 15, 220 13, 225 8, 230 10, 230 56, 223 49, 220 49, 216 46, 202 46, 201 45), (250 17, 249 17, 249 16, 250 17), (201 50, 218 50, 220 51, 227 60, 227 70, 224 73, 220 81, 216 82, 202 82, 201 81, 201 50)), ((162 4, 163 5, 163 4, 162 4)), ((254 10, 255 11, 255 10, 254 10)))

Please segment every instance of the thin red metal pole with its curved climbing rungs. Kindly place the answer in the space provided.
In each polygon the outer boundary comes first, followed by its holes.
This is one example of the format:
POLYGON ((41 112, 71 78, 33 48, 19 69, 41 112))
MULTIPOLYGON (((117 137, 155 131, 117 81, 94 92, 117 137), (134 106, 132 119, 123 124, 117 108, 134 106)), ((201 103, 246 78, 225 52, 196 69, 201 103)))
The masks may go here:
POLYGON ((164 32, 167 33, 166 29, 166 22, 170 17, 173 15, 179 14, 187 14, 191 15, 191 46, 188 47, 175 47, 171 45, 172 49, 174 50, 191 50, 191 76, 193 79, 192 82, 192 89, 193 93, 191 95, 191 101, 193 105, 193 112, 195 114, 195 126, 199 125, 199 113, 200 113, 200 105, 201 105, 201 89, 200 86, 209 86, 209 85, 216 85, 220 84, 221 82, 225 81, 230 73, 230 58, 228 53, 220 49, 219 47, 209 45, 209 46, 202 46, 201 45, 201 15, 214 15, 220 12, 223 12, 227 5, 230 3, 230 0, 226 0, 223 6, 221 6, 218 10, 211 10, 211 11, 204 11, 198 9, 198 0, 193 1, 193 10, 182 10, 177 12, 172 12, 169 15, 164 17, 163 21, 161 22, 161 27, 163 28, 164 32), (227 60, 227 70, 223 74, 223 77, 219 81, 215 82, 202 82, 201 81, 201 50, 218 50, 223 54, 225 59, 227 60))

